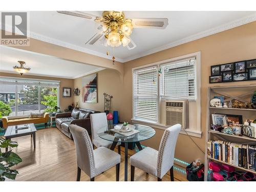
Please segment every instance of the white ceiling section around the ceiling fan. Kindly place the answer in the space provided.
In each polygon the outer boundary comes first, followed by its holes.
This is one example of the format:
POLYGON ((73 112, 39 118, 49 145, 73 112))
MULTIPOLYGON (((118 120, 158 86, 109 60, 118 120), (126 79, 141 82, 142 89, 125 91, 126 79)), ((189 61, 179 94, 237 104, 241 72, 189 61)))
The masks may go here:
MULTIPOLYGON (((100 15, 101 11, 88 12, 100 15)), ((137 47, 128 50, 115 48, 116 60, 125 62, 185 42, 218 33, 256 20, 256 12, 249 11, 124 11, 127 18, 166 17, 169 25, 164 30, 135 28, 131 38, 137 47)), ((30 12, 30 36, 56 45, 111 58, 113 48, 85 45, 95 33, 95 22, 84 18, 59 14, 55 11, 30 12)))

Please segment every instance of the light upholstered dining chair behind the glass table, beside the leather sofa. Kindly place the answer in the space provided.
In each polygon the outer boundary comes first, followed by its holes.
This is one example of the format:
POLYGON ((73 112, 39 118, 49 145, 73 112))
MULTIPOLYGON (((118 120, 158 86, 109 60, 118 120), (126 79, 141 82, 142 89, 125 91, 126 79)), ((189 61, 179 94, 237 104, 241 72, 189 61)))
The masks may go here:
MULTIPOLYGON (((99 129, 101 129, 102 127, 108 127, 108 120, 106 120, 106 114, 105 113, 91 114, 90 119, 91 119, 91 127, 92 127, 93 148, 94 146, 96 146, 97 148, 101 146, 110 148, 113 141, 107 141, 105 139, 102 139, 97 134, 99 129)), ((118 154, 121 154, 120 144, 121 144, 120 142, 117 143, 118 154)))

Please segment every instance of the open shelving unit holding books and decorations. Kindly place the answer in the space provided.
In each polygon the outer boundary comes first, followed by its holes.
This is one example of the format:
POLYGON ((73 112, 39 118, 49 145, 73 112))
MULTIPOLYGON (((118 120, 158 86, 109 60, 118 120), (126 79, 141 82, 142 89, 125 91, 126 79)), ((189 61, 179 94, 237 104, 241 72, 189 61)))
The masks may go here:
POLYGON ((210 100, 214 98, 214 96, 224 96, 224 101, 229 102, 231 99, 238 99, 242 101, 250 102, 250 97, 253 94, 253 91, 256 91, 256 84, 248 84, 242 86, 228 86, 228 87, 209 87, 207 93, 207 113, 206 113, 206 133, 205 133, 205 172, 204 172, 204 180, 207 181, 207 173, 208 173, 208 163, 209 161, 220 162, 223 164, 228 164, 230 166, 235 167, 238 170, 244 170, 246 172, 251 172, 256 174, 255 171, 246 169, 244 167, 236 166, 225 161, 221 161, 207 155, 207 145, 208 140, 223 140, 229 142, 236 142, 240 144, 256 144, 256 138, 249 138, 246 136, 238 136, 238 135, 228 135, 221 132, 210 130, 211 123, 211 114, 233 114, 233 115, 242 115, 243 122, 245 119, 255 119, 256 118, 256 109, 236 109, 236 108, 216 108, 210 106, 210 100))

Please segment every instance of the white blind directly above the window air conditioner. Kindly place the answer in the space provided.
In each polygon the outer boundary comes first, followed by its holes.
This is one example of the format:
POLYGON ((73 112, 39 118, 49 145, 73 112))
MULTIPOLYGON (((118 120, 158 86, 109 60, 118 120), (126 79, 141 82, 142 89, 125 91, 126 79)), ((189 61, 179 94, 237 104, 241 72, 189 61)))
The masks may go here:
POLYGON ((161 97, 196 100, 196 58, 165 63, 162 68, 161 97))

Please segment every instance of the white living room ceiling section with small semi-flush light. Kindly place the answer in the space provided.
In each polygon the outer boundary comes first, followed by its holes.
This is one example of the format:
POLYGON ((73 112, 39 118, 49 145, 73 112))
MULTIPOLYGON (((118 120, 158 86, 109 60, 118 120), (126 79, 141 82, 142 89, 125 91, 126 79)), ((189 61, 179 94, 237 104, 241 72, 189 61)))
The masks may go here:
POLYGON ((18 60, 25 61, 25 67, 31 68, 29 73, 26 73, 28 75, 41 75, 73 79, 103 70, 103 68, 86 65, 83 63, 0 46, 1 72, 16 73, 13 71, 13 66, 19 66, 17 62, 18 60))

